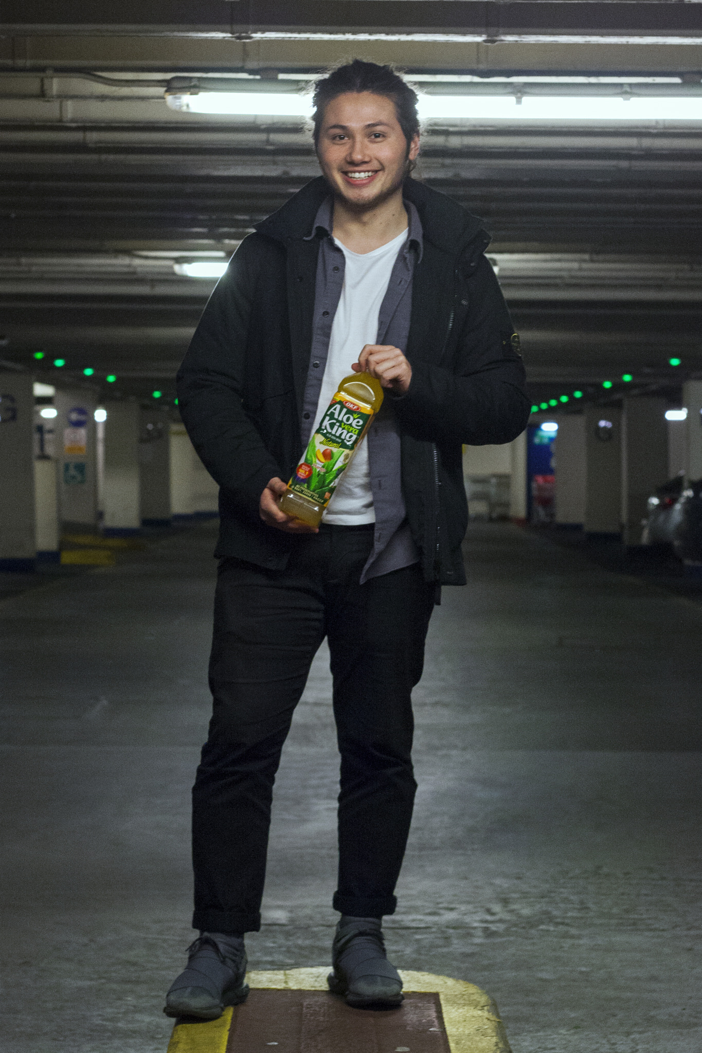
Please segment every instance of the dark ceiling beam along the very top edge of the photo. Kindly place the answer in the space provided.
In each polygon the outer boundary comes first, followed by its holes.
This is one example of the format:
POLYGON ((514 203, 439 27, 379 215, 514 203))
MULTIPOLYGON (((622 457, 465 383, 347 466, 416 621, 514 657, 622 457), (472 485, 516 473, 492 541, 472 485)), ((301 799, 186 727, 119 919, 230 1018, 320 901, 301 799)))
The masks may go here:
POLYGON ((23 35, 702 43, 699 4, 617 0, 4 0, 2 19, 23 35))

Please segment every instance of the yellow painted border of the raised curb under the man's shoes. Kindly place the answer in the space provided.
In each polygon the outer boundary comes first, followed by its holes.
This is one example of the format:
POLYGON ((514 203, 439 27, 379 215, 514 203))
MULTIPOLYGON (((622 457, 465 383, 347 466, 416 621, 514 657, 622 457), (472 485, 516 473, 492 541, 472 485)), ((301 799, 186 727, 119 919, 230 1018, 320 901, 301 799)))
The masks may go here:
MULTIPOLYGON (((328 971, 325 966, 261 970, 247 973, 246 981, 259 990, 327 991, 328 971)), ((406 993, 439 995, 452 1053, 510 1053, 497 1006, 475 984, 410 970, 400 970, 400 976, 406 993)), ((206 1024, 177 1024, 167 1053, 225 1053, 232 1012, 206 1024)))

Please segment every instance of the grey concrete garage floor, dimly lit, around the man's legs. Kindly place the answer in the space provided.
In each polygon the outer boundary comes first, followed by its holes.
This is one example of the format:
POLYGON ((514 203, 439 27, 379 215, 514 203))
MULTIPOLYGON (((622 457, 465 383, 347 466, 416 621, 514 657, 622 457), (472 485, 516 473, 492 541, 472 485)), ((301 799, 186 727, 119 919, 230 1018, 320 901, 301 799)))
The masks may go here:
MULTIPOLYGON (((163 1053, 193 938, 214 524, 0 602, 0 1046, 163 1053)), ((702 607, 508 525, 470 528, 416 692, 396 963, 472 980, 514 1053, 702 1049, 702 607)), ((277 784, 253 968, 328 960, 325 654, 277 784)))

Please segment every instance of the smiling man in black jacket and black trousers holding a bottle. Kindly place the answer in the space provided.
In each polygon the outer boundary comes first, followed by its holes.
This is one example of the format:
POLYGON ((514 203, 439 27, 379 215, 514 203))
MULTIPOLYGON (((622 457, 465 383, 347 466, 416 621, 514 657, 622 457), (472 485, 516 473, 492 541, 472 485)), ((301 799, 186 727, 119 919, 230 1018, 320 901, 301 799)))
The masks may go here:
POLYGON ((220 484, 209 667, 214 712, 194 787, 200 937, 165 1012, 212 1019, 246 997, 273 782, 326 636, 341 753, 341 919, 329 988, 394 1006, 381 919, 416 783, 410 693, 441 584, 463 584, 462 443, 508 442, 529 414, 488 237, 409 178, 417 96, 358 60, 317 82, 323 175, 259 223, 215 290, 179 372, 183 420, 220 484), (339 381, 366 370, 383 409, 319 530, 278 498, 339 381))

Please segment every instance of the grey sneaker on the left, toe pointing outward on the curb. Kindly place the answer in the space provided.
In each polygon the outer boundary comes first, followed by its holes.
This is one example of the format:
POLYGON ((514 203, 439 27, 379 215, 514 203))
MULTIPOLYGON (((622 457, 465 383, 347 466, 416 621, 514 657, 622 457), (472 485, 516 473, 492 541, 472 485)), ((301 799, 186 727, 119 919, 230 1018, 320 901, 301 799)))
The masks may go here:
POLYGON ((248 985, 243 939, 204 932, 187 949, 187 967, 166 995, 166 1016, 216 1020, 225 1006, 245 1001, 248 985))

